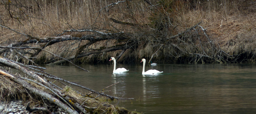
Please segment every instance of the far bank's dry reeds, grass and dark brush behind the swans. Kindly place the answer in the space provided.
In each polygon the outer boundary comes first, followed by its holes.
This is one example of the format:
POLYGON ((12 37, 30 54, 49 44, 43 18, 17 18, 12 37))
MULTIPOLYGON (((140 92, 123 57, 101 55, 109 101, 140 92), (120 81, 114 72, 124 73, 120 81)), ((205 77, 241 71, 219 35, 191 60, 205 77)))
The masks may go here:
MULTIPOLYGON (((164 45, 152 61, 193 64, 255 62, 253 0, 4 0, 0 8, 1 25, 9 28, 0 29, 2 46, 31 38, 80 37, 54 44, 34 42, 22 45, 45 47, 65 58, 75 56, 69 59, 74 59, 74 62, 106 63, 110 57, 119 56, 118 62, 135 63, 141 58, 149 60, 161 44, 164 45), (74 31, 85 29, 93 31, 74 31), (83 40, 84 37, 105 39, 90 42, 83 40), (122 47, 125 52, 121 55, 122 49, 116 49, 79 57, 82 53, 118 45, 127 46, 126 49, 122 47)), ((46 52, 30 56, 35 52, 30 49, 22 53, 36 63, 60 60, 46 52)), ((1 53, 4 57, 17 59, 13 52, 1 53)), ((18 60, 27 62, 19 55, 18 60)))

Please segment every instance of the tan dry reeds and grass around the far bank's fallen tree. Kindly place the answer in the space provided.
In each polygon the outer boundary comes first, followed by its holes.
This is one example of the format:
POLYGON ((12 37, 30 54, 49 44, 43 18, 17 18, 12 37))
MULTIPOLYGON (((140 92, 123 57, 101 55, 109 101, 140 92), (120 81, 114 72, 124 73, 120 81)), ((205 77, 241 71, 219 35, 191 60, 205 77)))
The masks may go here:
MULTIPOLYGON (((254 26, 256 20, 256 3, 252 0, 151 1, 154 5, 160 3, 156 7, 148 7, 149 5, 145 3, 145 1, 131 1, 119 3, 107 8, 104 7, 117 1, 38 1, 40 8, 37 7, 37 4, 33 0, 19 2, 23 2, 23 5, 31 9, 27 10, 25 7, 20 7, 24 11, 22 12, 15 7, 15 5, 11 5, 11 8, 14 9, 12 11, 13 16, 20 18, 20 20, 17 21, 16 18, 10 18, 10 16, 8 16, 8 10, 4 5, 1 5, 1 24, 18 30, 18 32, 30 34, 35 37, 51 37, 62 33, 63 30, 95 27, 103 28, 98 29, 103 32, 124 31, 134 34, 131 38, 138 39, 140 41, 139 46, 133 50, 128 49, 124 53, 124 57, 122 56, 120 58, 120 62, 150 58, 152 53, 159 47, 158 43, 161 43, 157 41, 157 37, 175 35, 194 26, 200 21, 202 21, 201 25, 207 28, 207 33, 214 43, 218 44, 226 53, 230 55, 241 53, 255 54, 254 43, 256 30, 254 26), (124 26, 113 23, 109 18, 123 22, 136 23, 138 25, 148 24, 148 27, 154 29, 162 29, 166 23, 171 23, 173 26, 170 26, 168 29, 163 29, 163 34, 160 34, 152 32, 148 28, 124 26), (167 18, 169 18, 169 20, 167 18)), ((8 1, 4 1, 4 3, 8 3, 8 1)), ((26 37, 3 28, 0 28, 0 32, 3 37, 1 41, 2 44, 9 44, 13 41, 26 39, 26 37)), ((65 33, 64 35, 66 34, 71 33, 65 33)), ((72 34, 91 33, 82 32, 72 34)), ((202 38, 202 40, 204 39, 202 38)), ((46 49, 62 57, 68 57, 75 54, 77 50, 76 47, 86 44, 86 42, 87 41, 66 41, 48 46, 46 49), (60 50, 60 48, 62 49, 60 50)), ((89 46, 84 52, 99 47, 110 47, 115 44, 115 40, 97 42, 89 46)), ((159 51, 159 56, 154 57, 154 59, 173 58, 175 50, 169 49, 171 46, 165 48, 167 49, 159 51)), ((191 50, 191 47, 184 48, 191 50)), ((120 52, 121 50, 104 54, 93 54, 80 58, 80 60, 81 62, 103 62, 107 61, 109 57, 118 56, 120 52)), ((40 62, 42 62, 42 60, 43 62, 49 62, 55 58, 53 55, 44 52, 41 52, 37 57, 39 58, 37 61, 40 62)))

